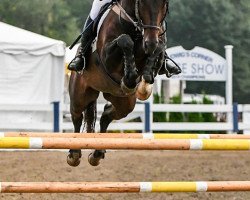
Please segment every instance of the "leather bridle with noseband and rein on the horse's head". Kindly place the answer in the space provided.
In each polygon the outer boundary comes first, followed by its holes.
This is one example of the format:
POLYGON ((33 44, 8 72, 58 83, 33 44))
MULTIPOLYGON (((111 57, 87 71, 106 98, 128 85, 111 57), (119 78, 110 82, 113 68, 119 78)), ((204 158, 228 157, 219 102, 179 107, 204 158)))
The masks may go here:
MULTIPOLYGON (((165 17, 167 15, 167 11, 161 21, 161 24, 160 26, 155 26, 155 25, 148 25, 148 24, 144 24, 142 22, 142 19, 140 17, 140 14, 139 14, 139 1, 140 0, 136 0, 135 1, 135 17, 136 17, 136 20, 135 21, 127 12, 126 10, 122 7, 122 5, 116 0, 115 4, 118 6, 118 8, 120 9, 120 11, 126 16, 127 20, 130 21, 134 27, 140 31, 142 33, 142 35, 144 34, 144 30, 145 29, 156 29, 158 31, 161 31, 162 30, 162 23, 163 21, 165 20, 165 17)), ((121 13, 120 13, 120 16, 121 16, 121 13)))

